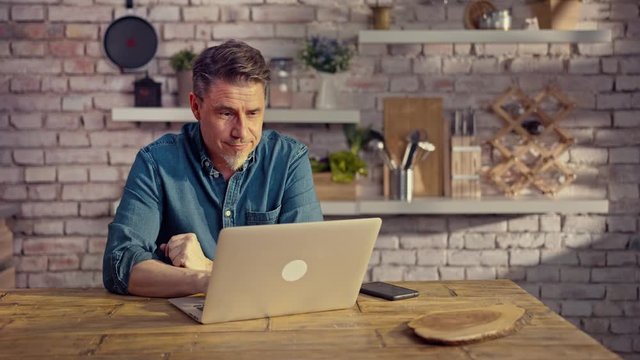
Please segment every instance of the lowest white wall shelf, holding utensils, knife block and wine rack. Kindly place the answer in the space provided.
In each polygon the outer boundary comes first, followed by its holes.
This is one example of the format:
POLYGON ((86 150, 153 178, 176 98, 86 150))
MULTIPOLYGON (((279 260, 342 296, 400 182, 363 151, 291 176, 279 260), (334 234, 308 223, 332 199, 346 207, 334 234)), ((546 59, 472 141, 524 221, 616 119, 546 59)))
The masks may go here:
POLYGON ((323 201, 325 215, 478 215, 478 214, 605 214, 604 199, 485 197, 482 199, 417 198, 412 202, 378 200, 323 201))

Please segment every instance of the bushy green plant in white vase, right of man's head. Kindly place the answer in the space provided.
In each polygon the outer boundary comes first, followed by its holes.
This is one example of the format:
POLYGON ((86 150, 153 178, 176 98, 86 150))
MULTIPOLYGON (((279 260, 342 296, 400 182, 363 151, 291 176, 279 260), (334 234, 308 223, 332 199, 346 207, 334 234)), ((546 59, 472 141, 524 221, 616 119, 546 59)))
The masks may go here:
POLYGON ((300 59, 317 71, 320 87, 315 99, 318 109, 333 109, 337 105, 337 94, 333 74, 349 69, 353 49, 345 42, 325 37, 311 37, 304 43, 300 59))

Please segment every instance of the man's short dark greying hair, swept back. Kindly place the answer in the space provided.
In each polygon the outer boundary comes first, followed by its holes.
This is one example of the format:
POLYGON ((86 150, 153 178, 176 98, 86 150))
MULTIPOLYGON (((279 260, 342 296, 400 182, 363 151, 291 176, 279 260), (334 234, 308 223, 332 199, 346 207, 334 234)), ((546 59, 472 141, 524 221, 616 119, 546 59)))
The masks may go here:
POLYGON ((258 82, 266 93, 270 79, 269 66, 260 51, 238 40, 205 49, 193 63, 193 92, 200 99, 216 80, 231 84, 258 82))

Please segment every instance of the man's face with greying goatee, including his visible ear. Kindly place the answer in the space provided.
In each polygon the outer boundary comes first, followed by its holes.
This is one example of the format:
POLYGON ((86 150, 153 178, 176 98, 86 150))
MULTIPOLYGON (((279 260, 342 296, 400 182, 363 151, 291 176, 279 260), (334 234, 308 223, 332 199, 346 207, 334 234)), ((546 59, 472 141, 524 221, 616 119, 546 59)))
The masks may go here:
POLYGON ((264 86, 258 82, 214 82, 203 99, 191 93, 191 111, 200 122, 207 152, 229 178, 242 167, 262 136, 264 86))

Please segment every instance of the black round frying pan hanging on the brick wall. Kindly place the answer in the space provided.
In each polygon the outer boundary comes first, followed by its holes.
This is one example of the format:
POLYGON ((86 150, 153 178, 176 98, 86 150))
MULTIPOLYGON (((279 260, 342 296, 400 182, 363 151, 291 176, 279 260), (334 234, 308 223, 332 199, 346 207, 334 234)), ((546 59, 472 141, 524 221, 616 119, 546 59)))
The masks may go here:
POLYGON ((104 33, 104 51, 121 71, 140 68, 156 54, 158 35, 151 24, 133 15, 133 0, 126 0, 128 15, 114 20, 104 33))

